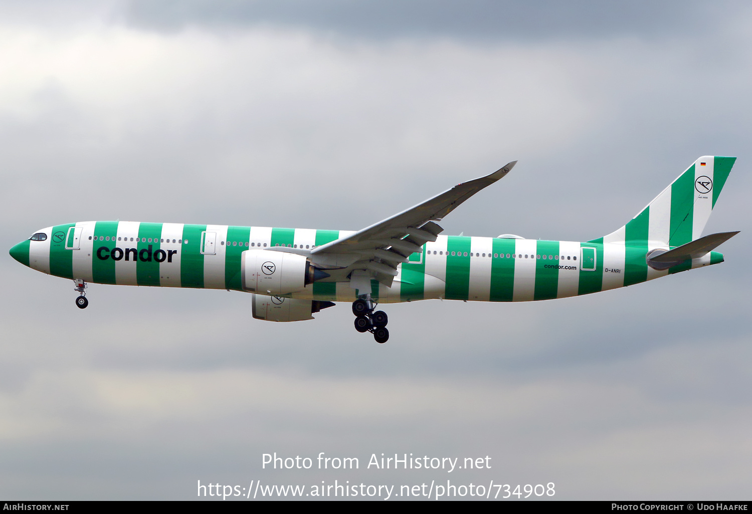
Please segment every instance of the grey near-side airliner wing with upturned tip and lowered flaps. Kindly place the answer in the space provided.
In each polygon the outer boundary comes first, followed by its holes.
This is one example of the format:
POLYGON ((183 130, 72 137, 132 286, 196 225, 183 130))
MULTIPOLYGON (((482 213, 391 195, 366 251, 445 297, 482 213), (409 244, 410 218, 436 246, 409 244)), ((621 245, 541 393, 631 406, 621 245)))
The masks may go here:
POLYGON ((486 177, 458 184, 381 222, 317 246, 311 250, 311 257, 323 265, 331 263, 327 268, 368 270, 379 282, 391 286, 399 263, 408 262, 408 255, 420 252, 426 241, 435 241, 436 236, 444 231, 435 221, 440 221, 463 201, 505 177, 515 164, 517 161, 512 161, 486 177))

